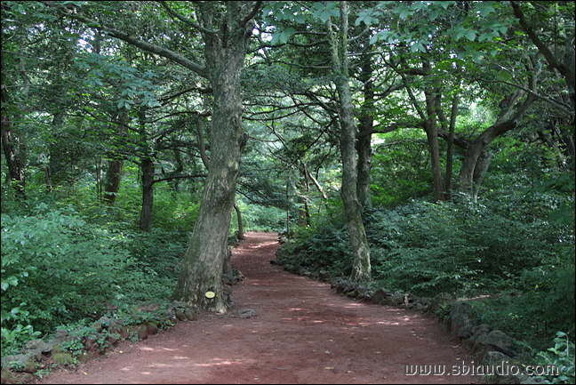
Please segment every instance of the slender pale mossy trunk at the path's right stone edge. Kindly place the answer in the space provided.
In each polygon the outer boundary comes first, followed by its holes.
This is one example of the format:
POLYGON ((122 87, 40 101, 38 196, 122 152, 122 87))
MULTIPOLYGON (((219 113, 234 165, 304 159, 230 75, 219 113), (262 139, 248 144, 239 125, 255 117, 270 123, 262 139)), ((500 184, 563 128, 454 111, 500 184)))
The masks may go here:
POLYGON ((340 195, 344 203, 344 214, 348 224, 350 243, 352 244, 353 266, 352 281, 369 281, 370 249, 362 221, 362 205, 356 196, 356 124, 354 124, 354 106, 352 92, 348 83, 348 5, 340 2, 340 34, 338 40, 332 33, 332 20, 328 20, 331 40, 332 69, 336 75, 336 88, 340 98, 338 113, 340 117, 340 155, 342 158, 342 188, 340 195))

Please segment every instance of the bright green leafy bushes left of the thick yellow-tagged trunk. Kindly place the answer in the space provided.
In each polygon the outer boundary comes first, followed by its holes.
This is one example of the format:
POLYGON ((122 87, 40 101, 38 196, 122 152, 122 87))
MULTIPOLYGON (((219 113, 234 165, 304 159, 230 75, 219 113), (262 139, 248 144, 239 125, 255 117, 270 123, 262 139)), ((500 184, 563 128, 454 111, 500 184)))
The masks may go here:
POLYGON ((187 236, 102 229, 72 208, 45 204, 30 215, 3 214, 3 352, 36 331, 99 317, 114 302, 162 301, 175 285, 170 265, 187 236))

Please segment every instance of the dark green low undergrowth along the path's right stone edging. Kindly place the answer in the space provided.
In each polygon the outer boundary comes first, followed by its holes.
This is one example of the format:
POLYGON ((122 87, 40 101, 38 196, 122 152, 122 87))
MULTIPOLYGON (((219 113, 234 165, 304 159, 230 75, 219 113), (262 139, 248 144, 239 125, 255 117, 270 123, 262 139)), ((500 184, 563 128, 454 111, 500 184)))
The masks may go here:
MULTIPOLYGON (((520 221, 523 217, 464 199, 413 200, 365 213, 372 286, 428 297, 484 294, 491 299, 473 301, 483 322, 534 349, 549 347, 559 330, 573 341, 574 228, 541 216, 520 221)), ((351 271, 344 221, 316 222, 283 247, 306 269, 328 270, 332 277, 348 277, 351 271)))

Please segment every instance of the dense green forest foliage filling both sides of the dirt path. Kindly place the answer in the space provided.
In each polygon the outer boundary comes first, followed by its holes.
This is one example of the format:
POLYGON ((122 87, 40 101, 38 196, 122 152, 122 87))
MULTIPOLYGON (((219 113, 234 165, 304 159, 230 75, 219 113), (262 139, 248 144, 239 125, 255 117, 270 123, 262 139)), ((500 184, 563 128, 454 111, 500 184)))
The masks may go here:
POLYGON ((573 2, 3 2, 3 355, 167 301, 196 258, 202 207, 226 205, 230 240, 286 229, 302 267, 350 277, 345 213, 364 206, 370 285, 478 297, 484 321, 535 349, 556 337, 538 357, 572 359, 573 376, 573 14, 573 2), (240 11, 244 35, 231 33, 240 11), (220 73, 241 74, 220 92, 211 71, 233 49, 244 67, 220 73), (222 172, 240 153, 237 175, 222 172))

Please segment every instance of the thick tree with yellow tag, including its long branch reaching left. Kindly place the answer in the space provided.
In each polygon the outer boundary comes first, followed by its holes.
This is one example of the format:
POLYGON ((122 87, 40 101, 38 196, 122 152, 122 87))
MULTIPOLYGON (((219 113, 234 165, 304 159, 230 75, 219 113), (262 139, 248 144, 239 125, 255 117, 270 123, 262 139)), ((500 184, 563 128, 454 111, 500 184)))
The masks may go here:
MULTIPOLYGON (((226 255, 240 156, 248 140, 242 124, 240 75, 252 36, 252 18, 259 11, 261 2, 161 3, 168 18, 157 20, 156 25, 170 25, 174 30, 189 36, 189 40, 199 33, 204 43, 201 60, 195 58, 194 53, 178 52, 178 46, 167 48, 169 44, 150 43, 134 36, 132 31, 138 30, 140 26, 126 23, 126 20, 122 23, 110 20, 112 12, 105 9, 108 4, 88 4, 82 7, 54 2, 44 4, 57 7, 67 17, 140 50, 179 63, 209 80, 213 94, 211 166, 196 226, 172 299, 225 312, 220 276, 226 255), (205 295, 207 292, 216 295, 208 298, 205 295)), ((162 16, 154 5, 144 4, 141 12, 146 12, 148 17, 162 16)), ((161 38, 158 40, 162 41, 161 38)))

